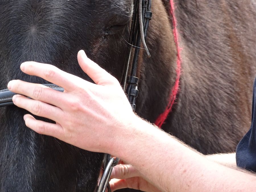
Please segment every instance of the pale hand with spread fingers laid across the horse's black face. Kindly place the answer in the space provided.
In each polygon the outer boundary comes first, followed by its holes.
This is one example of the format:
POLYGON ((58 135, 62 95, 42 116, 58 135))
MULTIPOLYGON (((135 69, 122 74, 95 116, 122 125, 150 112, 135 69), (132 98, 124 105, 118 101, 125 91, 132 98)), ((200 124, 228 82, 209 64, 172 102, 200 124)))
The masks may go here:
POLYGON ((131 119, 138 117, 117 79, 88 59, 84 51, 79 51, 78 62, 96 84, 52 65, 25 62, 20 66, 24 73, 46 79, 65 91, 21 80, 10 81, 8 88, 21 94, 13 96, 16 106, 56 122, 39 121, 26 114, 27 127, 85 150, 109 153, 115 145, 113 141, 125 132, 131 119))

